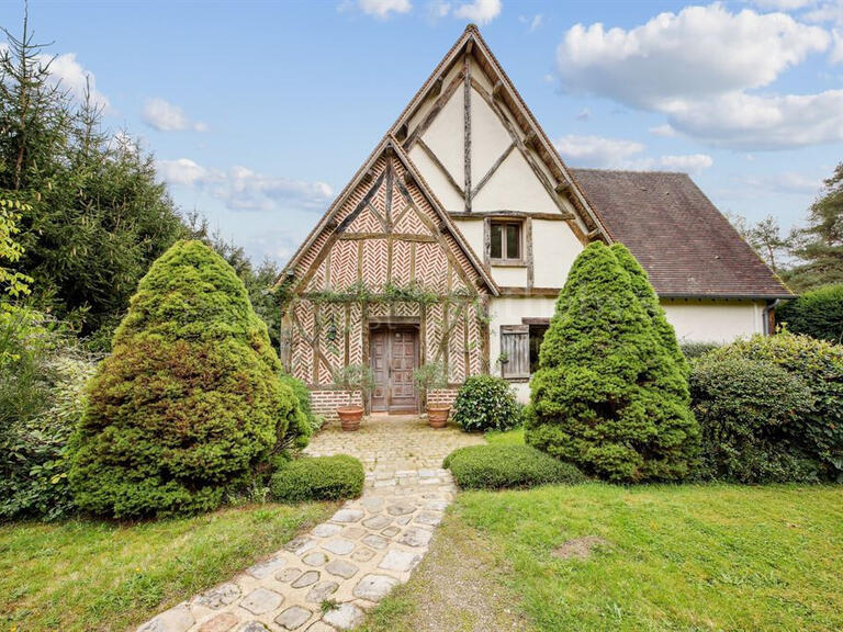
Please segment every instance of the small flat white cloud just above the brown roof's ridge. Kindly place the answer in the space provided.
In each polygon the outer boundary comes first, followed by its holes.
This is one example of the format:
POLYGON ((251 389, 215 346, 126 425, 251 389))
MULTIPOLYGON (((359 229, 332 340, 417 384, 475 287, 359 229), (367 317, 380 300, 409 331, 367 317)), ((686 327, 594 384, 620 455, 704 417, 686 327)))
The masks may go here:
POLYGON ((697 172, 713 165, 706 154, 650 158, 644 155, 647 148, 641 143, 602 136, 567 135, 557 140, 555 146, 562 158, 573 167, 697 172))

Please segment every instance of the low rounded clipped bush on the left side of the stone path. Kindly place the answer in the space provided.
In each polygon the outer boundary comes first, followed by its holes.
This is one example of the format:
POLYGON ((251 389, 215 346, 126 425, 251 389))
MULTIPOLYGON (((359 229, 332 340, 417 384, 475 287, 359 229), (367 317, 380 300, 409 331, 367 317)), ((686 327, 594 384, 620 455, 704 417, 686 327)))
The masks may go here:
POLYGON ((282 503, 339 500, 360 496, 364 479, 363 465, 353 456, 305 456, 282 465, 269 488, 282 503))

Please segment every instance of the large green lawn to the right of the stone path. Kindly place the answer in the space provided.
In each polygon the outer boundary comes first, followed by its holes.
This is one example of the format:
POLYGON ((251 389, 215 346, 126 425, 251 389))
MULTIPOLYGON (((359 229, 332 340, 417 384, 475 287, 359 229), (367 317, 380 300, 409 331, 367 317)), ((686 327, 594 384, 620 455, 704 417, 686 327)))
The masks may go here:
MULTIPOLYGON (((471 492, 448 523, 477 533, 509 569, 496 582, 526 617, 522 630, 843 630, 840 486, 471 492), (553 555, 588 535, 606 544, 585 560, 553 555)), ((414 582, 369 630, 404 630, 428 608, 414 582)), ((486 592, 497 599, 494 586, 486 592)))

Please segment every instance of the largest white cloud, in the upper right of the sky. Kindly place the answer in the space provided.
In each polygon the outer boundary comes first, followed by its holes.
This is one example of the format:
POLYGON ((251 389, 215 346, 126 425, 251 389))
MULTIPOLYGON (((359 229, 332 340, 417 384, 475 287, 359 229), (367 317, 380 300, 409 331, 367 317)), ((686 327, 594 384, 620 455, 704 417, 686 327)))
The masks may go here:
POLYGON ((838 91, 749 92, 830 43, 823 29, 784 13, 732 13, 716 3, 662 13, 628 31, 577 24, 557 49, 557 71, 570 92, 666 114, 667 126, 653 133, 670 127, 719 146, 775 149, 843 136, 838 91))

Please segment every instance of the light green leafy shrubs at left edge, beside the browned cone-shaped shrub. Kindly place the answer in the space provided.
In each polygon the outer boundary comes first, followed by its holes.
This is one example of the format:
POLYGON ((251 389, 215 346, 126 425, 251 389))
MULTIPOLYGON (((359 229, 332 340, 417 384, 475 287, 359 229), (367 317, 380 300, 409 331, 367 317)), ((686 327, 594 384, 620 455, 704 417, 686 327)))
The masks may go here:
POLYGON ((67 516, 67 443, 93 362, 43 315, 9 305, 0 357, 0 519, 67 516))

